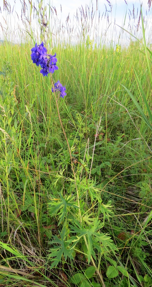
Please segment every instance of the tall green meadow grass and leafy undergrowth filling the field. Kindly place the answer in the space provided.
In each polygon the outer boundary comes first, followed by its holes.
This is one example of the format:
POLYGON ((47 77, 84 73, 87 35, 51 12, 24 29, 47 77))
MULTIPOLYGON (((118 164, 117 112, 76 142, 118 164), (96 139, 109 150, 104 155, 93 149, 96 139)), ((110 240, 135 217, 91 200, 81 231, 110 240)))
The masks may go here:
POLYGON ((96 45, 87 28, 57 42, 48 22, 48 77, 32 26, 1 43, 0 286, 152 286, 152 51, 139 21, 127 47, 96 45))

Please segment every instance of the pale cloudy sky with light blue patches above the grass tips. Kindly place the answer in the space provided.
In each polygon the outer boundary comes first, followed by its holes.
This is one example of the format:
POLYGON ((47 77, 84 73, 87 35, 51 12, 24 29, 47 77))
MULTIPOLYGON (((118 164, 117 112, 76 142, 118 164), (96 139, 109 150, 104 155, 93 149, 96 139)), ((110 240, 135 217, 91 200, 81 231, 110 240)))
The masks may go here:
MULTIPOLYGON (((20 21, 20 15, 21 15, 21 2, 23 2, 23 0, 7 0, 7 2, 9 2, 11 5, 11 11, 14 6, 13 13, 11 13, 10 15, 11 18, 10 17, 7 18, 7 23, 9 22, 9 28, 13 27, 13 29, 16 31, 18 25, 22 26, 22 23, 20 21), (15 11, 19 16, 19 20, 15 14, 15 11)), ((28 3, 28 0, 25 0, 25 2, 28 3)), ((49 0, 48 1, 44 0, 44 4, 47 4, 48 2, 49 0)), ((100 19, 101 19, 102 14, 103 14, 103 18, 105 17, 105 19, 107 19, 107 16, 108 16, 108 22, 107 21, 100 22, 99 34, 105 33, 106 35, 108 35, 107 37, 109 38, 109 40, 110 40, 110 37, 112 37, 114 34, 117 36, 120 34, 121 29, 119 28, 119 26, 124 27, 126 30, 133 33, 133 30, 131 30, 131 28, 134 29, 135 26, 137 27, 141 3, 142 3, 143 16, 146 21, 145 22, 146 34, 147 35, 151 34, 152 10, 150 8, 150 11, 148 11, 148 0, 143 0, 142 2, 140 0, 134 0, 134 1, 132 0, 97 0, 97 2, 98 2, 98 11, 96 12, 97 19, 99 17, 99 11, 100 11, 100 19), (133 19, 133 8, 134 8, 134 14, 135 14, 134 19, 133 19), (146 15, 146 11, 147 11, 147 15, 146 15), (114 23, 115 23, 115 26, 114 26, 114 23), (128 23, 130 24, 130 26, 128 26, 128 23)), ((34 4, 36 7, 38 6, 37 3, 38 3, 37 0, 35 1, 32 0, 32 4, 34 4)), ((90 8, 90 11, 91 11, 92 3, 93 3, 94 11, 96 11, 96 0, 92 0, 92 1, 90 0, 76 0, 76 1, 74 0, 73 1, 72 0, 64 0, 64 1, 63 0, 50 0, 51 6, 55 7, 57 11, 57 17, 55 15, 56 21, 58 23, 60 22, 61 24, 63 23, 63 26, 65 26, 68 15, 70 18, 68 24, 71 23, 71 25, 72 24, 77 25, 77 21, 75 18, 76 13, 78 12, 79 17, 80 17, 80 9, 82 9, 83 7, 83 9, 85 10, 86 5, 90 8), (62 7, 62 13, 61 13, 61 7, 62 7)), ((5 27, 5 21, 2 16, 6 18, 6 14, 3 11, 2 0, 0 0, 0 7, 1 7, 0 23, 2 24, 2 27, 5 27)), ((93 25, 95 26, 95 23, 93 23, 93 25)), ((141 33, 140 29, 139 29, 139 32, 141 33)), ((2 38, 2 34, 3 33, 1 32, 1 29, 0 29, 0 38, 2 38)))

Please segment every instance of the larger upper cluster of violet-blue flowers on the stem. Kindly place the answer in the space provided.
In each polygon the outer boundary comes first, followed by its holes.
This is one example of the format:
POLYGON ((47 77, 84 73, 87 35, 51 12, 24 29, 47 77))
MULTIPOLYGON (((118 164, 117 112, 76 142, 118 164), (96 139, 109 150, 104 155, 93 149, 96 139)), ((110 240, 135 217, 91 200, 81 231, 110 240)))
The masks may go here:
POLYGON ((46 76, 49 73, 54 73, 55 70, 58 70, 58 66, 56 66, 56 53, 54 56, 51 54, 47 54, 47 50, 44 47, 44 43, 42 42, 40 45, 35 44, 35 47, 31 49, 31 59, 33 63, 35 63, 37 66, 41 66, 40 73, 43 76, 46 76))

